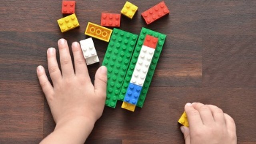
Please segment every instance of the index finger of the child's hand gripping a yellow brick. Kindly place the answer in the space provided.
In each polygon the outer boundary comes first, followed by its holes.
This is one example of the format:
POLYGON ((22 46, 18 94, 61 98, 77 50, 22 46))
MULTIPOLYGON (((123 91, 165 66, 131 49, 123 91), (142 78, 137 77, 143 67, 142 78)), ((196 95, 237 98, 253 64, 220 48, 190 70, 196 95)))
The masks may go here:
POLYGON ((198 128, 198 126, 203 125, 199 112, 192 106, 192 104, 187 103, 185 105, 185 112, 188 116, 189 128, 191 130, 194 130, 198 128))

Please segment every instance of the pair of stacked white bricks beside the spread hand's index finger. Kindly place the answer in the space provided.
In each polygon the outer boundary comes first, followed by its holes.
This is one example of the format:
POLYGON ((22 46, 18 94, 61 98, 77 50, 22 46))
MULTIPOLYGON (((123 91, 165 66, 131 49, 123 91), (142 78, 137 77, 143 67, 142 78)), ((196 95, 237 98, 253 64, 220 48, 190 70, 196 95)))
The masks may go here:
POLYGON ((95 46, 93 44, 92 38, 81 40, 80 45, 81 45, 82 52, 84 54, 84 58, 86 60, 87 65, 99 62, 99 58, 95 50, 95 46))

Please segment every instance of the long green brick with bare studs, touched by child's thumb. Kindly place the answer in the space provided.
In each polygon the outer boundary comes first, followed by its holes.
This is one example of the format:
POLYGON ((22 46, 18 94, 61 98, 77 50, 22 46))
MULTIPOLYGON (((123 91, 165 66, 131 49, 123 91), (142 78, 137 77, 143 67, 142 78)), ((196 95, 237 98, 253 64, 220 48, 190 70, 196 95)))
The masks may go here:
POLYGON ((103 66, 108 69, 106 106, 115 108, 138 35, 113 29, 103 66))

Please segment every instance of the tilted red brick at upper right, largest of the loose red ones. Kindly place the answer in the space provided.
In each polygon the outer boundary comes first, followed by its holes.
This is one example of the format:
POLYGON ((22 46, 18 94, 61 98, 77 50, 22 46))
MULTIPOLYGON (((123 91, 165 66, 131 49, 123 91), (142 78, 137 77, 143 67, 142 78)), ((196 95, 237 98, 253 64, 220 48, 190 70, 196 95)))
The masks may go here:
POLYGON ((152 8, 146 10, 145 12, 142 12, 142 17, 146 21, 147 24, 150 24, 159 18, 162 18, 166 14, 169 14, 169 10, 167 6, 165 5, 164 1, 160 2, 159 4, 156 4, 152 8))

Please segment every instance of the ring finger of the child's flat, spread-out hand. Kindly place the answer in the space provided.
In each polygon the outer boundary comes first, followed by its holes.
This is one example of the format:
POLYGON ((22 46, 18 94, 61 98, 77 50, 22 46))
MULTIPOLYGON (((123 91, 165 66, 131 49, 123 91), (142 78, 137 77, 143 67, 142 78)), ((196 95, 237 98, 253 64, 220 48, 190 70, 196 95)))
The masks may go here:
POLYGON ((52 79, 53 85, 61 79, 60 68, 56 59, 55 48, 48 48, 47 50, 48 70, 52 79))

